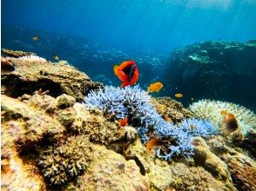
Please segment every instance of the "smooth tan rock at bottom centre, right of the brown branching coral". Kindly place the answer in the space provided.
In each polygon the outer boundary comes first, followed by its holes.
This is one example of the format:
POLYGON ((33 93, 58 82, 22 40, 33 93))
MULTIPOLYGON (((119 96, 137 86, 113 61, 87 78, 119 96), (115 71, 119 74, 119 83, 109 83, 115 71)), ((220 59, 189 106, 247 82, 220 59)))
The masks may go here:
POLYGON ((67 190, 149 190, 148 175, 141 175, 135 161, 126 161, 103 146, 94 145, 91 162, 84 175, 78 176, 64 189, 67 190))

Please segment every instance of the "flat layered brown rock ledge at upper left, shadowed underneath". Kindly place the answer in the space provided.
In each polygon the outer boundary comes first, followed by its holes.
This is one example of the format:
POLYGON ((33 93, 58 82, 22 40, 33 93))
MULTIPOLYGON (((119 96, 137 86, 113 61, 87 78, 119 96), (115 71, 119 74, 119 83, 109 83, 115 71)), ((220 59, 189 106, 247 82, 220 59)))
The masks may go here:
POLYGON ((2 94, 11 97, 32 94, 37 89, 49 90, 49 95, 72 95, 76 100, 82 100, 91 89, 102 86, 92 82, 84 72, 60 61, 47 62, 38 56, 8 57, 15 70, 1 74, 2 94))

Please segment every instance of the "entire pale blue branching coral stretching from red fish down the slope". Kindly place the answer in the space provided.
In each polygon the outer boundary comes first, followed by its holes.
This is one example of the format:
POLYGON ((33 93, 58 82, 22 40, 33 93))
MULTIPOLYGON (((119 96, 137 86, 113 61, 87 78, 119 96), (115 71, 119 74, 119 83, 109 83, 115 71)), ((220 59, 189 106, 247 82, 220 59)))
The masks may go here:
POLYGON ((157 156, 169 160, 172 155, 190 156, 193 154, 191 139, 193 135, 208 136, 214 133, 211 122, 190 119, 178 127, 165 120, 152 105, 152 97, 139 86, 126 86, 125 89, 106 87, 97 93, 84 97, 84 104, 89 109, 101 109, 104 114, 115 115, 117 119, 128 117, 129 123, 138 130, 141 142, 147 142, 149 131, 165 140, 165 149, 159 148, 157 156), (191 129, 193 126, 193 129, 191 129), (172 144, 175 142, 176 144, 172 144), (171 145, 171 146, 168 146, 171 145))

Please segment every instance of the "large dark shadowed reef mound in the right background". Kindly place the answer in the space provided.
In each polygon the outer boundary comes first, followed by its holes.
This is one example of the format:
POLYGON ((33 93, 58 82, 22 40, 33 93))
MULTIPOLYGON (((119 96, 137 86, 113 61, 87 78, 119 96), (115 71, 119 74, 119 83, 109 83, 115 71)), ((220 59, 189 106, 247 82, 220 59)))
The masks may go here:
POLYGON ((255 41, 194 43, 173 52, 164 82, 178 87, 186 102, 226 100, 255 110, 255 60, 255 41))

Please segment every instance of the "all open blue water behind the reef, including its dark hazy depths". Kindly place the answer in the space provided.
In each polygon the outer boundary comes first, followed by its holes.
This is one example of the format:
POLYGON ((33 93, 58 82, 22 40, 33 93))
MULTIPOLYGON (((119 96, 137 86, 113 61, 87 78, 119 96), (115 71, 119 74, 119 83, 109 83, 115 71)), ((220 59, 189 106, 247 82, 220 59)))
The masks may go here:
MULTIPOLYGON (((92 80, 114 86, 120 82, 112 66, 132 59, 138 63, 142 88, 164 83, 155 96, 173 97, 179 90, 186 95, 182 82, 174 87, 166 80, 173 76, 175 49, 205 41, 256 39, 255 0, 3 0, 1 16, 2 48, 32 51, 51 61, 57 55, 92 80), (40 40, 33 41, 33 36, 40 40)), ((252 87, 248 94, 253 99, 252 87)), ((223 98, 250 105, 226 97, 195 99, 223 98)), ((184 102, 188 103, 185 97, 184 102)))

